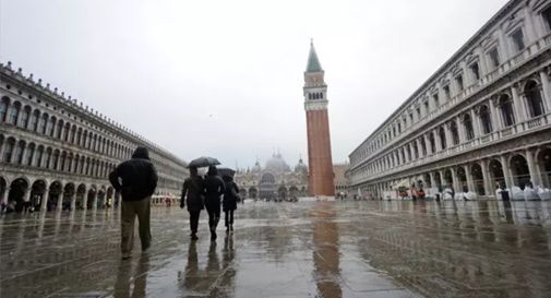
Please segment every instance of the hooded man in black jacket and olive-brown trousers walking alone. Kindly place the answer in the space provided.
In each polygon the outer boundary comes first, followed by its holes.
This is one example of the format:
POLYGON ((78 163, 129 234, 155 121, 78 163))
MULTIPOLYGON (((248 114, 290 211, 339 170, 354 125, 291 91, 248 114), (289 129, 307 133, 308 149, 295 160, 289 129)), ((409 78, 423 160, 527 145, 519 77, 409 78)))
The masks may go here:
POLYGON ((134 220, 140 224, 142 251, 151 246, 151 195, 157 188, 157 171, 145 147, 137 147, 130 160, 125 160, 109 174, 109 181, 122 196, 121 204, 121 253, 129 259, 134 243, 134 220))

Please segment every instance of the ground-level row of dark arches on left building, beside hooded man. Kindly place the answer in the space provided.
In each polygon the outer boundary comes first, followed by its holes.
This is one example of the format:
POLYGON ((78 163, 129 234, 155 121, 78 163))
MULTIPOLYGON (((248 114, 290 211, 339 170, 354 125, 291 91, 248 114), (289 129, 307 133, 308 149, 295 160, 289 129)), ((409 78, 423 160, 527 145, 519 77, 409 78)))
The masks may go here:
POLYGON ((89 210, 118 204, 118 195, 110 186, 96 186, 19 177, 13 181, 0 176, 0 198, 9 210, 52 211, 89 210))

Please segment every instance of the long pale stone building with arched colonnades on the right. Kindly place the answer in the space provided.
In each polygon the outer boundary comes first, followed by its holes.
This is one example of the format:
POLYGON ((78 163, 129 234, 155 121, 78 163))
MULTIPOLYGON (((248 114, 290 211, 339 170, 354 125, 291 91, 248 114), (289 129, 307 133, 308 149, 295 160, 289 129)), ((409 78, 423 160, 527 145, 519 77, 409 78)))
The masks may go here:
POLYGON ((551 188, 550 65, 551 1, 507 2, 350 153, 350 191, 551 188))

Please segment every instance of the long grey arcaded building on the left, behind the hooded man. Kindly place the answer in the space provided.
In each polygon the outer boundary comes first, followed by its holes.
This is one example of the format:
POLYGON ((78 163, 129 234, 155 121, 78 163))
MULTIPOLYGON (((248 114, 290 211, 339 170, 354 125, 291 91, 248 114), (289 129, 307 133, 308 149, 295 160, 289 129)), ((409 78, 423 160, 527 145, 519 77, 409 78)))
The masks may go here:
POLYGON ((11 62, 0 64, 0 201, 19 210, 115 206, 107 177, 139 145, 158 171, 155 199, 179 195, 183 160, 11 62))

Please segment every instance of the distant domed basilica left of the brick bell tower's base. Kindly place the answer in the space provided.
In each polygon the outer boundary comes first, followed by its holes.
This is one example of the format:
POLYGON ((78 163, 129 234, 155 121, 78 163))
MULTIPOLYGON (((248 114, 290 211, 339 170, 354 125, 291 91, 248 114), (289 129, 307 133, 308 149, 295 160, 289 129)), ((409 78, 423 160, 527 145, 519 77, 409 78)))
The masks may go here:
POLYGON ((243 198, 289 200, 304 196, 308 193, 308 167, 300 158, 291 169, 282 154, 274 153, 264 167, 256 162, 252 169, 238 171, 236 183, 243 198))

